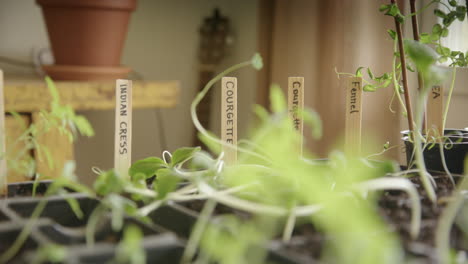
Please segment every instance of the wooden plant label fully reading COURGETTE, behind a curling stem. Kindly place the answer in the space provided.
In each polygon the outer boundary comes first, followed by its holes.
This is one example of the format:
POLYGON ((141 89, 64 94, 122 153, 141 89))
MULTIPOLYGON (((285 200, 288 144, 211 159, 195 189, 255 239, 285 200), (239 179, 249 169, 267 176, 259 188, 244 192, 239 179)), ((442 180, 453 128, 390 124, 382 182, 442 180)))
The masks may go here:
POLYGON ((221 80, 221 140, 224 160, 227 164, 237 161, 237 78, 223 77, 221 80))

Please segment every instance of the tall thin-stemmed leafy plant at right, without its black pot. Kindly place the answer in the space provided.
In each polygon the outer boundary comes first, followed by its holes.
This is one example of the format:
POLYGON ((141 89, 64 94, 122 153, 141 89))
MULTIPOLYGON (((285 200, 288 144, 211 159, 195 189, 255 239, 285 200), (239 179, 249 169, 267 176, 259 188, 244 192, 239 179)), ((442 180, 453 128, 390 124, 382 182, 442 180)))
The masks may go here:
MULTIPOLYGON (((433 188, 434 180, 427 172, 423 159, 423 149, 432 148, 436 143, 439 144, 441 160, 444 169, 449 177, 453 178, 446 166, 444 157, 444 146, 451 146, 450 138, 445 138, 445 135, 439 135, 437 131, 429 131, 424 128, 424 113, 425 102, 427 101, 429 88, 434 84, 439 84, 447 78, 447 70, 435 67, 436 63, 448 63, 452 70, 452 82, 449 89, 449 96, 445 104, 443 125, 441 131, 445 130, 448 109, 455 85, 455 75, 457 67, 466 67, 468 65, 468 51, 452 51, 448 47, 442 45, 442 39, 449 35, 449 27, 456 20, 464 21, 467 16, 467 7, 459 4, 458 1, 441 1, 432 0, 426 4, 421 10, 416 10, 415 0, 410 0, 411 13, 403 15, 396 1, 391 0, 390 4, 383 4, 379 11, 386 16, 393 17, 395 21, 395 29, 389 29, 388 34, 394 42, 392 72, 384 73, 381 76, 375 76, 370 68, 367 68, 368 79, 364 78, 366 83, 363 87, 364 91, 373 92, 380 88, 385 88, 390 85, 394 87, 394 98, 396 97, 403 109, 403 115, 408 119, 408 127, 410 133, 408 139, 414 142, 415 163, 419 168, 419 174, 423 181, 424 188, 428 193, 429 198, 435 202, 436 194, 433 188), (436 23, 432 26, 429 33, 419 33, 417 15, 425 9, 437 5, 445 10, 434 9, 434 15, 442 19, 442 23, 436 23), (411 20, 413 29, 413 39, 404 39, 401 30, 401 25, 411 20), (434 50, 432 50, 432 48, 434 50), (409 60, 409 61, 408 61, 409 60), (418 95, 416 112, 413 113, 411 106, 410 89, 408 87, 407 71, 417 72, 418 74, 418 95), (403 98, 404 97, 404 98, 403 98), (415 116, 415 118, 413 117, 415 116), (446 143, 449 142, 449 143, 446 143)), ((339 75, 351 75, 363 77, 362 70, 364 67, 359 67, 355 74, 338 73, 339 75)), ((392 100, 393 101, 393 100, 392 100)))

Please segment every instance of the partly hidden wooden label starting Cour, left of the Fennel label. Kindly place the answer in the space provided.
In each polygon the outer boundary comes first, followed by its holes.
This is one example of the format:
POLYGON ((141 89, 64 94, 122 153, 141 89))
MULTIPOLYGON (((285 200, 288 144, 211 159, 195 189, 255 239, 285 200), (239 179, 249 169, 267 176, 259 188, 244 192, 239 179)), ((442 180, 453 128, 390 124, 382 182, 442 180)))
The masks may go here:
POLYGON ((288 78, 288 114, 294 129, 299 132, 299 153, 302 155, 304 121, 300 113, 304 110, 304 77, 288 78))

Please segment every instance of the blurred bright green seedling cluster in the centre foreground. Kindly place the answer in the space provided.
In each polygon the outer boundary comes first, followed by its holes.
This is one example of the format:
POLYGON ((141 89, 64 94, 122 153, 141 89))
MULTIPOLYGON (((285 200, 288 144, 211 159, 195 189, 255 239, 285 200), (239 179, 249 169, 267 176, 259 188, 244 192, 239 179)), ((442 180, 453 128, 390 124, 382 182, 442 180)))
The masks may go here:
MULTIPOLYGON (((238 162, 224 164, 220 145, 225 143, 200 125, 196 107, 223 75, 243 66, 255 66, 256 61, 254 57, 252 62, 221 73, 192 103, 193 122, 206 145, 218 153, 217 157, 189 148, 176 150, 172 155, 165 152, 162 158, 151 157, 132 165, 133 178, 155 176, 153 188, 158 195, 163 194, 139 212, 150 215, 155 211, 157 219, 157 209, 165 203, 206 200, 182 263, 192 263, 195 256, 195 263, 263 263, 268 241, 289 243, 294 230, 304 223, 313 223, 334 238, 326 243, 322 255, 327 262, 400 262, 403 258, 400 245, 372 209, 373 196, 360 199, 352 193, 367 194, 382 189, 408 192, 412 201, 411 234, 416 237, 420 207, 414 186, 404 178, 379 178, 393 172, 391 162, 376 167, 340 152, 333 153, 326 163, 302 158, 297 149, 299 135, 291 126, 279 87, 271 89, 273 113, 256 108, 260 120, 257 129, 249 140, 237 146, 238 162), (177 189, 177 182, 181 181, 185 182, 184 187, 177 189), (349 203, 349 199, 353 202, 349 203), (217 205, 244 212, 248 217, 220 215, 215 212, 217 205), (343 217, 337 217, 339 212, 343 217), (220 247, 221 244, 224 246, 220 247), (196 254, 198 247, 200 251, 196 254)), ((311 125, 313 136, 319 137, 318 116, 310 111, 302 115, 311 125)))

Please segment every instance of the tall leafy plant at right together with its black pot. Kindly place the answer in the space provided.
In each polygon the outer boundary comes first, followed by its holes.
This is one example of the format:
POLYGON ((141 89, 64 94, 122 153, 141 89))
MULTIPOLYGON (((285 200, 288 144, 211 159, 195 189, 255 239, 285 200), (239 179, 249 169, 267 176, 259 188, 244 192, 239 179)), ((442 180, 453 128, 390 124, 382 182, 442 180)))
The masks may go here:
MULTIPOLYGON (((408 167, 414 167, 415 165, 418 167, 423 179, 423 184, 430 194, 431 199, 435 201, 435 193, 430 183, 430 181, 432 181, 431 176, 427 173, 426 167, 430 170, 445 171, 450 177, 451 173, 462 173, 464 156, 468 151, 468 145, 466 144, 468 141, 466 137, 467 131, 464 129, 445 129, 448 109, 450 107, 450 100, 455 84, 456 68, 466 67, 468 65, 468 52, 452 51, 443 46, 441 41, 442 38, 450 34, 449 27, 454 21, 464 21, 466 19, 467 8, 464 4, 459 4, 457 1, 448 1, 448 3, 446 3, 444 1, 434 0, 429 2, 421 10, 416 10, 415 1, 410 0, 408 2, 410 4, 411 13, 407 16, 402 14, 394 0, 391 0, 390 4, 384 4, 380 7, 380 11, 387 16, 391 16, 395 22, 395 29, 388 30, 388 34, 394 42, 392 72, 376 76, 370 68, 367 68, 368 79, 364 80, 366 84, 363 86, 363 90, 373 92, 377 89, 393 85, 394 98, 398 100, 402 113, 408 121, 409 130, 402 132, 404 134, 403 140, 407 150, 408 167), (432 5, 437 5, 437 7, 442 6, 444 8, 444 11, 437 8, 434 11, 434 15, 439 17, 442 22, 436 23, 432 27, 430 33, 420 34, 417 15, 424 12, 432 5), (412 39, 421 45, 426 45, 428 48, 434 49, 432 55, 429 56, 428 54, 421 54, 419 52, 409 54, 407 49, 415 48, 417 43, 408 42, 408 40, 404 39, 402 25, 409 23, 410 20, 413 29, 412 39), (419 57, 422 59, 425 58, 427 61, 422 63, 419 57), (411 60, 408 61, 408 59, 411 60), (449 67, 439 67, 439 72, 445 72, 442 74, 443 76, 430 75, 432 64, 442 62, 449 64, 449 67), (428 63, 431 64, 431 67, 427 66, 428 63), (418 105, 414 112, 412 96, 410 95, 408 84, 408 71, 417 74, 418 86, 420 87, 415 96, 418 98, 416 100, 418 105), (436 91, 430 90, 433 86, 440 85, 447 79, 450 76, 450 72, 452 80, 448 99, 443 111, 442 127, 438 127, 437 129, 433 127, 426 128, 424 115, 426 112, 427 98, 430 92, 436 93, 436 91), (426 77, 426 80, 424 77, 426 77), (418 121, 420 121, 420 123, 418 123, 418 121), (443 135, 442 131, 444 131, 443 135), (418 147, 414 148, 415 144, 418 147), (419 147, 419 145, 421 145, 421 147, 419 147)), ((427 53, 430 52, 428 49, 420 46, 416 49, 425 50, 427 53)), ((363 68, 364 67, 358 68, 355 74, 347 75, 363 76, 361 72, 363 68)), ((443 97, 443 94, 436 94, 435 96, 443 97)))

